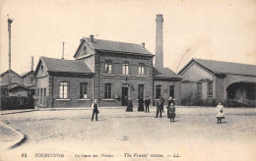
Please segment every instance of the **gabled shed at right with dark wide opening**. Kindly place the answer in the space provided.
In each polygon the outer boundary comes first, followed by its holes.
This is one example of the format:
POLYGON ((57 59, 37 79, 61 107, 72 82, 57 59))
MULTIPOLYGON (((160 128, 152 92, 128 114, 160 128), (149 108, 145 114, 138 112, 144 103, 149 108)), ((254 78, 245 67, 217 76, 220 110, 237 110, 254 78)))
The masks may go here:
POLYGON ((214 105, 217 101, 256 104, 256 66, 192 59, 179 73, 182 105, 214 105))

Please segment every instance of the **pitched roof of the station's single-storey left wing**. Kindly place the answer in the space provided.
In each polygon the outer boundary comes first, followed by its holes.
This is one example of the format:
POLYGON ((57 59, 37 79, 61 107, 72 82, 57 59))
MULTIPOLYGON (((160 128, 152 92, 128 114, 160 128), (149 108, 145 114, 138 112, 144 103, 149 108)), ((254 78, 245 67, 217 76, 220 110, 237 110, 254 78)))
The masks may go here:
POLYGON ((80 60, 40 57, 48 72, 94 74, 89 66, 80 60))

